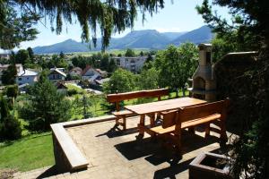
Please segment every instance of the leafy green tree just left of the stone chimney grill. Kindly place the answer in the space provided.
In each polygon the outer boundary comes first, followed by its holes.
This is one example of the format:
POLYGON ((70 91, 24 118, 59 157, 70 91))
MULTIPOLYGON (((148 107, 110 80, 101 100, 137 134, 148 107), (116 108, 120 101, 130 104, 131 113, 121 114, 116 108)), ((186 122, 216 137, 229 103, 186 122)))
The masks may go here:
POLYGON ((185 89, 187 79, 190 78, 198 64, 198 49, 192 43, 185 43, 180 47, 169 46, 156 55, 154 63, 159 72, 159 82, 162 87, 176 90, 185 89))

